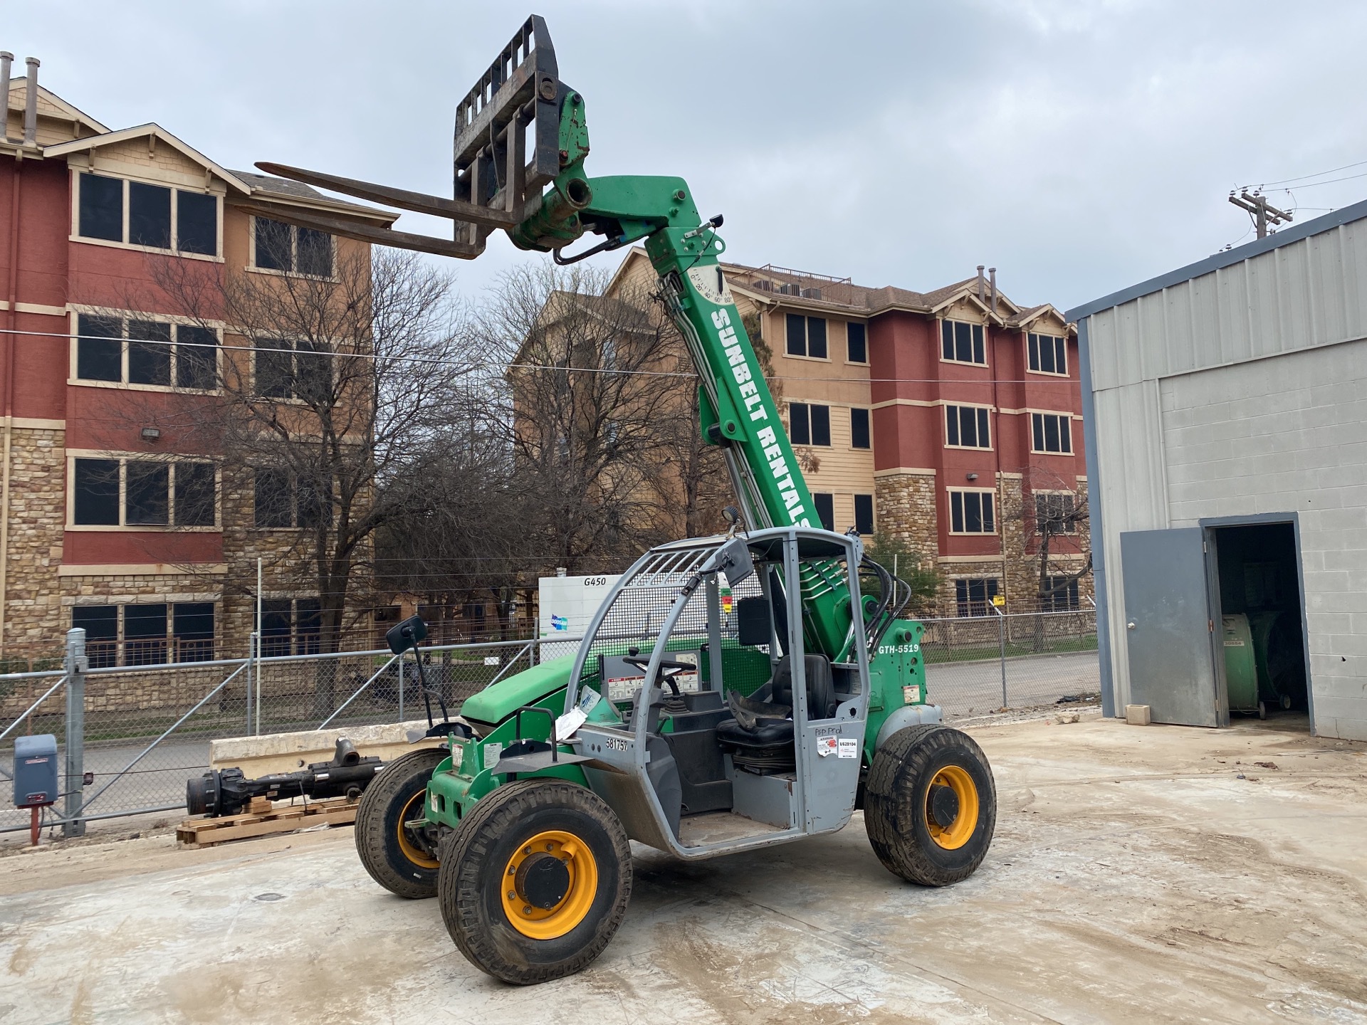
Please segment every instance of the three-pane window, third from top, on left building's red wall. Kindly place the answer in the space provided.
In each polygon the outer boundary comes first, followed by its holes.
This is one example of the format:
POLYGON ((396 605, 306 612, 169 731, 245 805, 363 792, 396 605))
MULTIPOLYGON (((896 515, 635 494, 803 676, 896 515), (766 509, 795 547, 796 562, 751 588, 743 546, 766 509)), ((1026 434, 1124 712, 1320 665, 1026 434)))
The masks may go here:
POLYGON ((71 522, 77 526, 213 526, 213 463, 75 459, 71 522))

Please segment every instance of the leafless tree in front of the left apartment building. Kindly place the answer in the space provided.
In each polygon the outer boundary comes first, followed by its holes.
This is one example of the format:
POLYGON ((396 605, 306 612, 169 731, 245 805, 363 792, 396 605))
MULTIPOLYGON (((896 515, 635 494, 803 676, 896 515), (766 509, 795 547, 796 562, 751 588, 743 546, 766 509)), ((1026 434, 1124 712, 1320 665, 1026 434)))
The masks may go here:
MULTIPOLYGON (((178 344, 178 361, 197 358, 213 391, 174 407, 149 400, 135 415, 217 465, 226 547, 316 593, 319 646, 339 651, 365 607, 373 536, 421 496, 414 470, 468 361, 451 279, 427 261, 331 241, 310 260, 313 273, 221 276, 152 264, 176 309, 206 329, 226 325, 224 344, 216 364, 178 344), (276 530, 249 537, 253 523, 276 530)), ((230 588, 250 593, 254 581, 230 588)), ((331 693, 320 698, 331 704, 331 693)))

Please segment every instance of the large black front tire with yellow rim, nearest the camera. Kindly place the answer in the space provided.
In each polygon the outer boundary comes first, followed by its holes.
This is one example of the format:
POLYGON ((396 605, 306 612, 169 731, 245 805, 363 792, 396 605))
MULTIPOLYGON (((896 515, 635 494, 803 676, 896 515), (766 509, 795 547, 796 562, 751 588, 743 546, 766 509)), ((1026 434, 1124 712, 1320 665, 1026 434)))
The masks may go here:
MULTIPOLYGON (((548 892, 545 899, 555 899, 556 890, 548 892)), ((565 780, 522 779, 499 787, 474 805, 442 851, 437 897, 447 932, 472 965, 504 983, 545 983, 586 968, 617 933, 630 895, 632 846, 622 823, 592 790, 565 780), (573 836, 591 860, 580 853, 565 861, 562 851, 570 847, 550 856, 540 846, 530 849, 532 838, 556 832, 573 836), (515 905, 534 899, 524 892, 522 866, 537 857, 569 865, 566 879, 573 880, 554 906, 522 907, 548 916, 548 932, 567 929, 545 939, 524 932, 541 922, 514 924, 504 905, 504 897, 515 905), (596 886, 584 882, 589 872, 596 886), (510 873, 517 880, 511 884, 510 873), (576 917, 580 909, 582 917, 576 917)))

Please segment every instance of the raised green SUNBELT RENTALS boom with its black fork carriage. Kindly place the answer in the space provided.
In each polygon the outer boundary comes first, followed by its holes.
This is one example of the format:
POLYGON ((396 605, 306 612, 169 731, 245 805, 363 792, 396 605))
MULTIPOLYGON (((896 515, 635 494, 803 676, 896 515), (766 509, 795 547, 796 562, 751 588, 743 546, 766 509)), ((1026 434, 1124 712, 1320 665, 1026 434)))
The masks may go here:
MULTIPOLYGON (((588 153, 584 98, 559 79, 545 22, 532 16, 457 109, 452 198, 284 164, 257 167, 457 224, 455 238, 447 241, 351 226, 340 217, 320 220, 302 210, 287 217, 267 215, 379 245, 469 260, 484 250, 491 231, 503 230, 519 249, 550 251, 556 262, 569 264, 644 242, 701 379, 704 436, 725 448, 746 525, 820 526, 718 262, 726 249, 716 235, 722 219, 703 221, 679 178, 588 178, 588 153), (565 256, 563 249, 585 234, 603 241, 565 256)), ((841 569, 804 563, 802 605, 808 648, 819 648, 834 660, 848 659, 856 611, 841 569)))

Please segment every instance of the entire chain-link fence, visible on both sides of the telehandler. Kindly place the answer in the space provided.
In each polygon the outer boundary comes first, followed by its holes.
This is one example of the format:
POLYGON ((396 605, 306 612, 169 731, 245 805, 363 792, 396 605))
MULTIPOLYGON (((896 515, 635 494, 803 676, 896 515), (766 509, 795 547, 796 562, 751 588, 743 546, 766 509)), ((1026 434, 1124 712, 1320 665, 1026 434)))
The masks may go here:
MULTIPOLYGON (((928 697, 949 719, 1089 697, 1100 689, 1094 610, 994 608, 983 616, 923 623, 928 697)), ((433 715, 439 700, 455 712, 477 690, 573 653, 577 644, 547 637, 424 648, 433 715)), ((67 769, 66 793, 45 819, 75 834, 93 819, 183 808, 185 782, 208 769, 212 739, 427 715, 411 655, 368 651, 87 668, 89 653, 74 652, 68 644, 63 670, 0 675, 0 784, 8 790, 16 735, 53 734, 67 769), (68 733, 79 738, 71 752, 68 733)), ((29 828, 30 813, 8 805, 0 805, 0 832, 29 828)))

